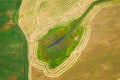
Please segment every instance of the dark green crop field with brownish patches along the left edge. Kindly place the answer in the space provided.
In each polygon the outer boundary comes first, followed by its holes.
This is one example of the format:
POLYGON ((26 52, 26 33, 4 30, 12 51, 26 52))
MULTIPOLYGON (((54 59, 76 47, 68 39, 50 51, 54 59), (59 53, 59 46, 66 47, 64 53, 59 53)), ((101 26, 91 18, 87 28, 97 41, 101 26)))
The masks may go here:
POLYGON ((14 16, 20 4, 0 0, 0 80, 28 80, 27 41, 14 16))

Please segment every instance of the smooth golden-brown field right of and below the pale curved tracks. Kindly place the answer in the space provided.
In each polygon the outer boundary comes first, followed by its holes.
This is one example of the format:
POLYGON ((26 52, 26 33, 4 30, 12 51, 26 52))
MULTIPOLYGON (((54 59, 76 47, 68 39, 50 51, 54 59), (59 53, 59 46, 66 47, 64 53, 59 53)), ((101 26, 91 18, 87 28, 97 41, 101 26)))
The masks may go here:
POLYGON ((58 78, 32 68, 33 80, 117 80, 120 78, 120 5, 103 8, 92 20, 91 37, 78 61, 58 78))

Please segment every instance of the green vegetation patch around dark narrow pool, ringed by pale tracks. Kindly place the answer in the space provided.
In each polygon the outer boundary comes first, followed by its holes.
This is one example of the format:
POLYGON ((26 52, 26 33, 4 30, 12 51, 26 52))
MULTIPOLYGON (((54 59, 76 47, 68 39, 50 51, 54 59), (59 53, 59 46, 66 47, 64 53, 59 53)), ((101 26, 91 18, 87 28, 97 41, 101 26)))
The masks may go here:
POLYGON ((55 68, 66 60, 75 49, 84 32, 83 27, 76 27, 77 20, 68 25, 59 25, 50 29, 39 40, 38 59, 55 68))

